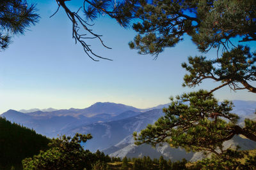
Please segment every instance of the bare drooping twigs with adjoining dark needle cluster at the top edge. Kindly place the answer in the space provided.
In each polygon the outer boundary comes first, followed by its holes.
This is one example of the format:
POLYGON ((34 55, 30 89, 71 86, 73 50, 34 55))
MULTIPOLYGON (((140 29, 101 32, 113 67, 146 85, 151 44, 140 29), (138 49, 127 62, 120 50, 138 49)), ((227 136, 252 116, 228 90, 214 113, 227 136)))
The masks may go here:
POLYGON ((134 17, 136 10, 135 6, 138 2, 136 0, 125 0, 122 3, 116 3, 109 0, 84 0, 83 4, 77 11, 71 11, 70 8, 68 8, 68 6, 65 4, 65 1, 71 0, 56 0, 58 9, 51 15, 51 17, 58 12, 60 7, 63 8, 65 13, 67 13, 67 17, 72 22, 72 38, 75 39, 76 43, 83 46, 83 50, 86 55, 95 61, 99 61, 97 58, 111 60, 106 57, 101 57, 93 52, 91 45, 89 45, 86 41, 86 39, 98 39, 102 46, 111 49, 102 40, 102 35, 96 34, 92 31, 91 27, 93 24, 89 24, 88 21, 94 20, 100 15, 108 15, 111 18, 115 18, 115 20, 123 27, 128 27, 131 18, 134 17), (83 9, 83 15, 85 18, 81 17, 82 15, 79 13, 81 9, 83 9))

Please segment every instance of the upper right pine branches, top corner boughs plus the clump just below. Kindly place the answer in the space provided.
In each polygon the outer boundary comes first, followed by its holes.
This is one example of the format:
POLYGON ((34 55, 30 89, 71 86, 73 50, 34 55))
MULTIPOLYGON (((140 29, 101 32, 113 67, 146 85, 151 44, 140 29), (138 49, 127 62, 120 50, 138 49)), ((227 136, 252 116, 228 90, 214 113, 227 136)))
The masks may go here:
POLYGON ((184 35, 189 35, 200 52, 216 48, 218 56, 211 60, 204 56, 189 57, 189 66, 182 65, 189 72, 184 77, 184 86, 195 87, 211 78, 221 83, 212 92, 229 86, 232 90, 255 93, 256 87, 250 81, 256 80, 256 54, 248 46, 234 45, 256 41, 255 9, 253 0, 141 3, 136 13, 141 20, 133 25, 138 35, 129 45, 141 54, 155 55, 156 59, 164 48, 177 45, 184 35))

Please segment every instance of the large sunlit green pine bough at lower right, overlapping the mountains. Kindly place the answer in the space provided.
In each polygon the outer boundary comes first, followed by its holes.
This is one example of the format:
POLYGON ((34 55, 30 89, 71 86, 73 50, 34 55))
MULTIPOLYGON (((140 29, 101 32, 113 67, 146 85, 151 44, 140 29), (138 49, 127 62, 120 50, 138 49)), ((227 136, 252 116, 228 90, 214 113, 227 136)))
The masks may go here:
POLYGON ((256 141, 256 122, 244 128, 237 125, 238 116, 230 113, 233 104, 230 101, 218 101, 205 90, 171 97, 169 108, 164 108, 165 116, 154 125, 148 125, 137 137, 136 144, 167 142, 173 147, 182 147, 188 152, 208 151, 218 154, 223 151, 223 142, 236 134, 243 134, 256 141))

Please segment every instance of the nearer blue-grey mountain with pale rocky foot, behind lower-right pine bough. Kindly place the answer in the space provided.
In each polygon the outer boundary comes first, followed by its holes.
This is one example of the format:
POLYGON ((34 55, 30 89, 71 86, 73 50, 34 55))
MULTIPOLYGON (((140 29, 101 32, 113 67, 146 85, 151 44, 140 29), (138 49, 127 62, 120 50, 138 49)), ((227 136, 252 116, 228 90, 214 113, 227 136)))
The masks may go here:
MULTIPOLYGON (((246 108, 239 101, 235 101, 235 104, 236 107, 232 112, 237 113, 241 117, 241 120, 245 117, 253 116, 256 104, 247 104, 246 108)), ((162 107, 166 106, 159 106, 159 108, 162 107)), ((180 148, 170 148, 168 145, 157 146, 154 149, 149 145, 136 146, 133 144, 132 132, 141 131, 147 124, 152 124, 161 115, 163 115, 161 109, 145 111, 144 113, 140 113, 140 115, 122 120, 82 125, 67 133, 70 135, 75 132, 91 133, 93 139, 86 143, 86 148, 92 151, 99 149, 113 157, 143 157, 144 155, 148 155, 152 158, 159 158, 160 155, 164 155, 166 159, 169 158, 172 160, 180 160, 184 157, 193 161, 202 159, 202 153, 186 153, 180 148), (112 146, 110 146, 111 144, 112 146)), ((239 136, 225 143, 225 146, 230 145, 240 145, 245 150, 256 148, 255 142, 239 136)))

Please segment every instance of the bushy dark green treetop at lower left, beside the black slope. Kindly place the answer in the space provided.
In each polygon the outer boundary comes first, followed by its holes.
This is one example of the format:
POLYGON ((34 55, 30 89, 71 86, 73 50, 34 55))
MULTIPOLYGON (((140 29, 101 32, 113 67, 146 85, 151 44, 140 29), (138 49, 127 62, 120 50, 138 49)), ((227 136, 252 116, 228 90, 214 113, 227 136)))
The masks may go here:
POLYGON ((33 158, 22 160, 22 165, 24 169, 91 169, 91 164, 95 161, 93 153, 83 150, 80 145, 88 139, 92 139, 90 134, 52 139, 49 150, 42 151, 33 158))

